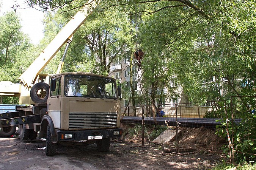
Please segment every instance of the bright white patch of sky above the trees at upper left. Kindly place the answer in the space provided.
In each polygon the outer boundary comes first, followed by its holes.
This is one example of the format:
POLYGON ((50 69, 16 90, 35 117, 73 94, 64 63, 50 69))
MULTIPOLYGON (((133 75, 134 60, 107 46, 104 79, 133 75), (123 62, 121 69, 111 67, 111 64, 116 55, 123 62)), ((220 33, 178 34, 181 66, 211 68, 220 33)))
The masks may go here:
POLYGON ((42 25, 44 17, 43 12, 28 8, 27 5, 23 3, 25 0, 0 0, 0 16, 6 11, 13 11, 14 9, 11 7, 16 4, 15 1, 20 5, 16 13, 20 15, 22 31, 28 34, 32 43, 38 44, 44 36, 42 25))

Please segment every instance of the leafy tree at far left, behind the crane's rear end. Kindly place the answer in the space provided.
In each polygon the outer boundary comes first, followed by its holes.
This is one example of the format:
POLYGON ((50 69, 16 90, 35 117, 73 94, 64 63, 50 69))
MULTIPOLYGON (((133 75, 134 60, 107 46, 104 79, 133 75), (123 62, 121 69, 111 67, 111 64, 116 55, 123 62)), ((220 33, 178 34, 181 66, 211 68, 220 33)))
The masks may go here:
MULTIPOLYGON (((20 30, 19 16, 6 12, 0 16, 0 81, 18 83, 23 67, 30 59, 31 43, 20 30)), ((17 97, 1 97, 4 104, 18 104, 17 97)))

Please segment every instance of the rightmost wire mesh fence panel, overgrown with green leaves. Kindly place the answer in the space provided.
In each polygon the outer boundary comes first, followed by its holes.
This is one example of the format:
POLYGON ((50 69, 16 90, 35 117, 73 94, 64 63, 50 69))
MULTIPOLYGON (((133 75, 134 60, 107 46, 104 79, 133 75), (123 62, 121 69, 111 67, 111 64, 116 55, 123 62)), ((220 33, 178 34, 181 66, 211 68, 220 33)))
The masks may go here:
POLYGON ((229 148, 234 159, 247 161, 256 158, 256 96, 231 97, 231 118, 227 122, 227 134, 229 133, 229 148), (240 120, 237 122, 237 120, 240 120))

